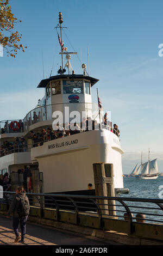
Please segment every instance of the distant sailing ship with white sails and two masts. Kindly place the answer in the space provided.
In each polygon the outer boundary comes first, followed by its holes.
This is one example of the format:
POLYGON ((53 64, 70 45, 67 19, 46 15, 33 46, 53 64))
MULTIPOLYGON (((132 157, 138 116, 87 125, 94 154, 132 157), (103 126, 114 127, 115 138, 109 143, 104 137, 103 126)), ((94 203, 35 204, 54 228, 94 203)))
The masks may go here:
POLYGON ((136 164, 130 176, 134 176, 143 180, 153 180, 158 178, 159 171, 158 171, 157 159, 150 161, 149 153, 150 151, 148 151, 148 161, 145 163, 142 163, 142 153, 141 153, 141 164, 139 167, 138 167, 138 163, 136 164))

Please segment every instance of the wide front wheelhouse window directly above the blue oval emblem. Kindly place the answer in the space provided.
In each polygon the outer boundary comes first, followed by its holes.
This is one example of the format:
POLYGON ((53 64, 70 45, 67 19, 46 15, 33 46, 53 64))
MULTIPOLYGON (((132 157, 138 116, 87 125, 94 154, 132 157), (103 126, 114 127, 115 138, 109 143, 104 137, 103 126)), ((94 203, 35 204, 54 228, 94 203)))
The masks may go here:
POLYGON ((83 80, 63 81, 64 94, 83 93, 83 80))

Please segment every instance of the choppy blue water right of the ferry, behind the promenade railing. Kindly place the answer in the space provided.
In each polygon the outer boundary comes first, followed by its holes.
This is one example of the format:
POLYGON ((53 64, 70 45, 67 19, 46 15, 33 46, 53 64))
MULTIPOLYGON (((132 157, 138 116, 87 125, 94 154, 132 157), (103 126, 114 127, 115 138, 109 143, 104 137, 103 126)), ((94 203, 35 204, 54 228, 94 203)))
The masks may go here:
MULTIPOLYGON (((163 200, 163 187, 159 190, 159 186, 163 186, 163 176, 159 176, 155 180, 141 180, 134 177, 124 178, 124 187, 129 188, 129 194, 121 194, 120 197, 130 197, 130 198, 150 198, 150 199, 162 199, 163 200), (162 193, 161 193, 162 191, 162 193), (159 197, 162 196, 162 198, 159 197)), ((136 214, 145 214, 146 223, 158 223, 163 224, 163 211, 162 209, 154 203, 144 203, 144 202, 127 202, 125 203, 129 206, 130 211, 133 213, 135 218, 136 214), (135 208, 138 206, 139 208, 135 208), (155 208, 155 209, 146 209, 155 208)), ((122 209, 120 203, 116 202, 118 210, 122 209)), ((163 205, 163 203, 162 203, 163 205)), ((118 212, 120 216, 123 216, 123 212, 118 212)), ((135 221, 135 219, 133 219, 135 221)))

